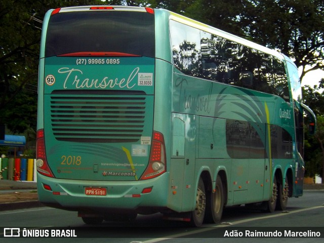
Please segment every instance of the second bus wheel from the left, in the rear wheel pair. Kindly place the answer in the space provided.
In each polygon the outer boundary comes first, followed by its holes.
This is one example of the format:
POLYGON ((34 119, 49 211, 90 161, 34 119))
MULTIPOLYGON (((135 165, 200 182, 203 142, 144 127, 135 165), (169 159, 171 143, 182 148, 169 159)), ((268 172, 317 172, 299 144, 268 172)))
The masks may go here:
POLYGON ((212 216, 215 223, 222 219, 224 207, 223 183, 220 176, 217 176, 215 192, 212 193, 212 216))

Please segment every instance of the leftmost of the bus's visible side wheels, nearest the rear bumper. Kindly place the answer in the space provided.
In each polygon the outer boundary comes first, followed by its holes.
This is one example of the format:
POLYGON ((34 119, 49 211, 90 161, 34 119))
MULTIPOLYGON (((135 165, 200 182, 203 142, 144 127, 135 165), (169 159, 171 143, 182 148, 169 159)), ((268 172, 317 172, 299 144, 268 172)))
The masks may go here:
POLYGON ((196 206, 191 212, 191 225, 199 227, 203 224, 206 210, 206 193, 203 179, 199 178, 198 188, 196 193, 196 206))

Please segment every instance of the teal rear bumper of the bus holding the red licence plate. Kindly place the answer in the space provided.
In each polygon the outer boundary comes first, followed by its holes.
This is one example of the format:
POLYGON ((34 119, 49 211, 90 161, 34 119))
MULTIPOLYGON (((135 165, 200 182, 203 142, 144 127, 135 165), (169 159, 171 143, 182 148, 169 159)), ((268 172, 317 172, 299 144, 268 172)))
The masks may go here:
POLYGON ((53 208, 154 213, 167 207, 168 179, 168 173, 144 181, 122 182, 56 179, 37 174, 37 192, 39 201, 53 208), (86 190, 91 188, 103 188, 105 195, 87 195, 86 190))

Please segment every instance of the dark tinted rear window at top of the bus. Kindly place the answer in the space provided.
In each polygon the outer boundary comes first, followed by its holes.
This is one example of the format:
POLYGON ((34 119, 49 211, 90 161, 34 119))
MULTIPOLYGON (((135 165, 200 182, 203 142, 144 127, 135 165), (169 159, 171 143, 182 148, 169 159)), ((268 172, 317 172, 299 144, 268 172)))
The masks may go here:
POLYGON ((80 11, 51 16, 45 56, 120 52, 154 57, 154 15, 129 11, 80 11))

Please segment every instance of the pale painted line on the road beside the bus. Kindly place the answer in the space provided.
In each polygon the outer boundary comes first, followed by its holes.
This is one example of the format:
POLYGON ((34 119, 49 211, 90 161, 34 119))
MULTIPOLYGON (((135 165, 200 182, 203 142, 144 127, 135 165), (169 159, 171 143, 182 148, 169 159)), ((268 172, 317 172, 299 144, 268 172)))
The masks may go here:
POLYGON ((307 209, 298 209, 298 210, 290 211, 288 214, 287 213, 281 213, 281 214, 262 216, 262 217, 258 217, 258 218, 252 218, 252 219, 238 220, 238 221, 231 222, 230 225, 229 224, 218 224, 218 225, 206 224, 206 225, 204 225, 204 228, 202 228, 202 229, 197 229, 197 230, 184 232, 184 233, 179 233, 179 234, 174 234, 174 235, 168 235, 168 236, 163 237, 163 238, 154 238, 154 239, 149 239, 149 240, 145 240, 145 241, 134 241, 134 242, 155 243, 155 242, 159 242, 159 241, 163 241, 163 240, 167 240, 167 239, 173 239, 173 238, 187 236, 187 235, 190 235, 190 234, 202 233, 202 232, 214 230, 215 228, 233 226, 233 225, 236 225, 236 224, 247 223, 247 222, 251 222, 251 221, 255 221, 255 220, 259 220, 259 219, 269 219, 269 218, 281 217, 281 216, 286 216, 286 215, 290 215, 290 214, 295 214, 295 213, 300 213, 300 212, 313 210, 313 209, 320 209, 320 208, 323 208, 323 206, 315 206, 315 207, 307 208, 307 209))

